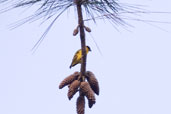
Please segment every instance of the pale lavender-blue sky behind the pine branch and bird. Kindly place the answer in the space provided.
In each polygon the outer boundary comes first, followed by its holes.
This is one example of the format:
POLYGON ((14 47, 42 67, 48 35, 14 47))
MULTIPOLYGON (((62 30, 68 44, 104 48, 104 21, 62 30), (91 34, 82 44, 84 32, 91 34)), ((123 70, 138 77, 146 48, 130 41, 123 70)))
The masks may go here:
MULTIPOLYGON (((127 3, 145 5, 149 11, 171 12, 170 0, 127 3)), ((0 14, 0 114, 76 114, 78 94, 69 101, 67 87, 58 89, 66 76, 80 69, 80 65, 69 69, 80 48, 79 35, 72 36, 76 13, 64 13, 34 54, 30 50, 50 21, 10 30, 12 23, 32 13, 32 9, 16 9, 0 14)), ((135 18, 168 22, 171 14, 135 18)), ((85 114, 171 114, 171 24, 127 23, 134 27, 125 30, 116 25, 117 31, 107 21, 85 23, 102 53, 86 33, 92 49, 87 70, 96 75, 100 95, 92 109, 86 102, 85 114)))

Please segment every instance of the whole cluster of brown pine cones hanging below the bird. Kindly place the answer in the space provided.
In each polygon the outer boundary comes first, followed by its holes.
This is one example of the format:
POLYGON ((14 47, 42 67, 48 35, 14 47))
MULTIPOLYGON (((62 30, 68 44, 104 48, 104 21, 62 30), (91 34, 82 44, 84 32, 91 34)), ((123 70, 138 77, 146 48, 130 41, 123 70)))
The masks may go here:
POLYGON ((77 114, 84 114, 85 109, 85 97, 88 100, 88 106, 91 108, 95 103, 95 94, 99 95, 99 84, 95 75, 91 71, 87 71, 83 77, 80 72, 75 72, 66 77, 59 85, 59 89, 68 86, 68 98, 69 100, 79 92, 77 98, 77 114), (85 78, 85 79, 83 79, 85 78))

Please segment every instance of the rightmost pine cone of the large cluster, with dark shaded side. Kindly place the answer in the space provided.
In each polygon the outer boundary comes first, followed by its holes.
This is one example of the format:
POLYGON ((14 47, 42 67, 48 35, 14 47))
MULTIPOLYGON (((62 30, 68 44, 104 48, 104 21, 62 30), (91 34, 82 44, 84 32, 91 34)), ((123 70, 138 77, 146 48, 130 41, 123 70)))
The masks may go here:
POLYGON ((99 95, 99 83, 98 83, 98 80, 96 79, 95 75, 91 71, 87 71, 86 78, 87 78, 87 81, 89 82, 92 90, 97 95, 99 95))

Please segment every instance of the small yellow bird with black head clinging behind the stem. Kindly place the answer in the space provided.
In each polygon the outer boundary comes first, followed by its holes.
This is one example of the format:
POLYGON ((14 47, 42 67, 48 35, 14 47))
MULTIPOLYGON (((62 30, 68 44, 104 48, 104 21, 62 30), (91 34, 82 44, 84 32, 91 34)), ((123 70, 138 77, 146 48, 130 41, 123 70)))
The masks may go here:
MULTIPOLYGON (((86 46, 86 54, 91 51, 90 47, 89 46, 86 46)), ((81 58, 82 58, 82 50, 78 50, 75 55, 74 55, 74 58, 72 59, 72 63, 70 65, 69 68, 77 65, 78 63, 81 63, 81 58)))

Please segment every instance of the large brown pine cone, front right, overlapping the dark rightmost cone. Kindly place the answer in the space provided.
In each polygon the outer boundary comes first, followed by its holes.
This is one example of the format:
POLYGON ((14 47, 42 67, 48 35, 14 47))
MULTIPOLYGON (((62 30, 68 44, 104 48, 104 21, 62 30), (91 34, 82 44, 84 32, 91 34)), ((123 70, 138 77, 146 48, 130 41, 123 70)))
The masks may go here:
POLYGON ((88 82, 81 82, 80 91, 87 97, 89 108, 96 103, 94 92, 88 82))

